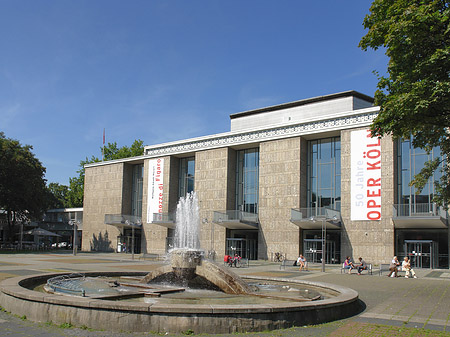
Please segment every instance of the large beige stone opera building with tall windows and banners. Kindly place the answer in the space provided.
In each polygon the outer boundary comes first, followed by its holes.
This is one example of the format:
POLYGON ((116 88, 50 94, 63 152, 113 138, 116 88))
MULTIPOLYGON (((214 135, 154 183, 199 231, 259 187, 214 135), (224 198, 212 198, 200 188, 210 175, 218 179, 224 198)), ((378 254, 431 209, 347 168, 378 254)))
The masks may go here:
POLYGON ((416 267, 448 268, 448 213, 432 202, 433 183, 420 194, 409 186, 439 150, 371 138, 378 111, 346 91, 235 113, 229 132, 88 164, 82 249, 164 254, 178 200, 195 191, 201 245, 219 257, 409 255, 416 267))

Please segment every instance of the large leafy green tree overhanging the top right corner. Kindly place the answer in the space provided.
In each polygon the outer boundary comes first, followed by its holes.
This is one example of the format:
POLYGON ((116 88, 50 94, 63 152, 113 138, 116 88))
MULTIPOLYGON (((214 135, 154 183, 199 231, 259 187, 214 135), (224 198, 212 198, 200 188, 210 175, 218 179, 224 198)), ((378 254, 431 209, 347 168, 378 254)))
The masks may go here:
POLYGON ((375 0, 364 19, 367 34, 360 48, 383 47, 389 58, 387 75, 380 76, 372 124, 374 136, 413 136, 413 145, 442 157, 430 161, 412 184, 420 191, 439 167, 435 201, 448 204, 450 172, 441 165, 449 158, 450 141, 450 10, 443 0, 375 0))

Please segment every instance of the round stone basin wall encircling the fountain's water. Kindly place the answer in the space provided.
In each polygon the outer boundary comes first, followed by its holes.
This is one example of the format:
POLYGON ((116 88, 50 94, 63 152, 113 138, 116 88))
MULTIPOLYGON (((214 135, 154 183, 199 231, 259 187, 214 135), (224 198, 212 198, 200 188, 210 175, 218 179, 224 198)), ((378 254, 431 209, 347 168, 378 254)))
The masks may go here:
MULTIPOLYGON (((86 276, 140 276, 142 272, 87 272, 86 276)), ((270 304, 159 304, 100 300, 46 294, 31 290, 51 277, 41 274, 15 277, 0 283, 0 304, 4 309, 35 322, 70 323, 107 331, 197 333, 264 331, 324 323, 352 316, 360 310, 358 293, 352 289, 282 278, 267 278, 314 286, 335 297, 311 302, 270 304)), ((257 277, 255 279, 261 279, 257 277)))

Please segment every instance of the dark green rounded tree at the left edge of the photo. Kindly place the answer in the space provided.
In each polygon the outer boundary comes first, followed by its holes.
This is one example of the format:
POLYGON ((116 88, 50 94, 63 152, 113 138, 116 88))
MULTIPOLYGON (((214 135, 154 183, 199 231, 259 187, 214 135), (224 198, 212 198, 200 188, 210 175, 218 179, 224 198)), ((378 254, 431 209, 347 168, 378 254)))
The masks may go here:
POLYGON ((0 209, 8 222, 4 240, 12 240, 17 223, 37 219, 47 208, 45 167, 32 149, 0 132, 0 209))

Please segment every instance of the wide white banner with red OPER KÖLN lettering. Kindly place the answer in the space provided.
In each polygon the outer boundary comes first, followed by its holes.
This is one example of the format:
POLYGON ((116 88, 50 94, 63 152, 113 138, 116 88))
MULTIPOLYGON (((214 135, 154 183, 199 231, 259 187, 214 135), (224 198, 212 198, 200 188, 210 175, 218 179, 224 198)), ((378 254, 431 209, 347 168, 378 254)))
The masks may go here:
POLYGON ((351 133, 351 220, 381 219, 381 139, 351 133))

